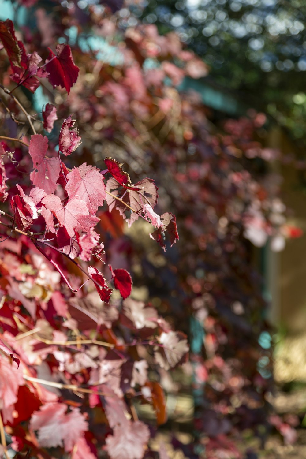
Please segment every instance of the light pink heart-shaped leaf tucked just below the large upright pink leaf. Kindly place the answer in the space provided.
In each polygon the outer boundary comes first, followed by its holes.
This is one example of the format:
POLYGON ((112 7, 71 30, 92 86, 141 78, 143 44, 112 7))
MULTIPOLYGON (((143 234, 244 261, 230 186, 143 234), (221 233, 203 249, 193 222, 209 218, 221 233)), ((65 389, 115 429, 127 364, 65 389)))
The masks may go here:
POLYGON ((42 203, 54 213, 61 226, 65 226, 70 237, 75 235, 75 231, 90 232, 93 224, 90 219, 83 218, 89 212, 85 202, 80 200, 78 196, 69 199, 65 207, 62 205, 61 199, 52 194, 46 196, 42 203))

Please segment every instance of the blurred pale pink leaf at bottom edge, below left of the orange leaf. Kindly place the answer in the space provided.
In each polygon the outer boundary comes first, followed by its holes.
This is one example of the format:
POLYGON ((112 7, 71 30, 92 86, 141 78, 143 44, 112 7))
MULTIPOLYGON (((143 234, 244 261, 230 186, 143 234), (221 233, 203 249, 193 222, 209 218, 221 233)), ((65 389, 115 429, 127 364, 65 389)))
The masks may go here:
POLYGON ((150 438, 149 428, 141 421, 116 425, 106 438, 106 451, 111 459, 142 459, 150 438))

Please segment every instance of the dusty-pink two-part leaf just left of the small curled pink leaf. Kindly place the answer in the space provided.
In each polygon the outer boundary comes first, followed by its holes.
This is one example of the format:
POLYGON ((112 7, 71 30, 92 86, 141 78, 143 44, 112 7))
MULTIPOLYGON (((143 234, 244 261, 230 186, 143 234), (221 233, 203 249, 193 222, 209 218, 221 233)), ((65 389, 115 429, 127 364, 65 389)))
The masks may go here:
POLYGON ((30 174, 32 183, 42 188, 47 194, 56 189, 56 181, 60 175, 60 160, 48 158, 45 154, 48 150, 48 139, 41 134, 31 136, 29 153, 33 161, 33 172, 30 174))

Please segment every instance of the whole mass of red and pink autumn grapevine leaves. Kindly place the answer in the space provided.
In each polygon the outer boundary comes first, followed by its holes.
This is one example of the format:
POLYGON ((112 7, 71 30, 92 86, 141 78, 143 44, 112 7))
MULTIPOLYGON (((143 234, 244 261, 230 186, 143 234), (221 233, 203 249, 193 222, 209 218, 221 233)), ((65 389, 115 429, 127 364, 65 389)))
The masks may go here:
POLYGON ((48 8, 36 4, 38 29, 22 41, 10 21, 0 28, 0 391, 11 448, 141 459, 156 429, 135 405, 165 423, 164 392, 184 389, 172 371, 184 363, 200 394, 188 454, 239 458, 233 437, 267 433, 271 389, 250 241, 279 249, 291 231, 268 170, 277 152, 253 140, 265 117, 211 126, 198 96, 176 89, 207 73, 177 35, 122 31, 101 6, 48 8), (93 37, 111 46, 109 60, 93 37), (48 103, 38 109, 39 91, 48 103))

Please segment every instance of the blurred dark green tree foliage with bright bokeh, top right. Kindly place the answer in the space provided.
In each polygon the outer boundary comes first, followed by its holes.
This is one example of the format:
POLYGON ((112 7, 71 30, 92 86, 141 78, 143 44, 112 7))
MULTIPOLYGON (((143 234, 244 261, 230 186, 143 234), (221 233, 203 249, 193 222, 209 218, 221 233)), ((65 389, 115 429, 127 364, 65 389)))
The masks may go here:
POLYGON ((141 5, 131 2, 131 17, 156 23, 161 33, 176 30, 211 67, 212 85, 234 90, 305 146, 303 1, 151 0, 144 9, 141 5))

